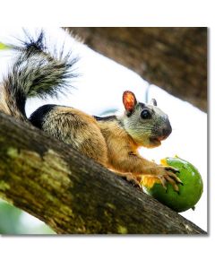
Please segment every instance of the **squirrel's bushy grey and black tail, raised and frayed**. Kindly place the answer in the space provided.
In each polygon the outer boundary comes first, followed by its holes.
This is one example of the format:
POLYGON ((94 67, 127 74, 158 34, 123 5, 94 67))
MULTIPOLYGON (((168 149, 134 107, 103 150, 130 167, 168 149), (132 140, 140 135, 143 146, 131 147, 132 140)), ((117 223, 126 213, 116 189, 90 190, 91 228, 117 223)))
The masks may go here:
POLYGON ((46 98, 57 96, 68 86, 68 80, 76 77, 74 65, 78 61, 71 52, 64 55, 54 48, 47 51, 43 30, 37 39, 25 31, 26 40, 22 45, 11 46, 17 56, 11 70, 0 85, 0 110, 26 120, 25 103, 28 97, 46 98))

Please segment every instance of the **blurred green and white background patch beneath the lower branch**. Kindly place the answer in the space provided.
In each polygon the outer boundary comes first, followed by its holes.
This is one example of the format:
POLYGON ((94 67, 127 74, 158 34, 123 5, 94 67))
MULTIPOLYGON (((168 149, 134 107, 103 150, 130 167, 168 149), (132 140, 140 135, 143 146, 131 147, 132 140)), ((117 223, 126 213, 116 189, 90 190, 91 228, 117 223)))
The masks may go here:
POLYGON ((0 200, 0 234, 55 234, 45 223, 0 200))

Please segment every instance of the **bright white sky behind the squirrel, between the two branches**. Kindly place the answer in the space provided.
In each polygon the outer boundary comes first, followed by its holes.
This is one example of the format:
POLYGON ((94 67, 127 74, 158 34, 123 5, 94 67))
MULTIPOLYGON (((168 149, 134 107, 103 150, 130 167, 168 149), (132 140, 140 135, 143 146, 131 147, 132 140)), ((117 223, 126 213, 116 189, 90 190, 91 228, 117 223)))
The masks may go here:
MULTIPOLYGON (((52 40, 56 42, 56 39, 61 40, 59 43, 64 40, 62 30, 48 29, 47 32, 50 33, 51 43, 52 40)), ((22 36, 22 30, 0 29, 0 41, 13 41, 14 39, 8 39, 8 36, 16 37, 17 34, 22 36)), ((74 48, 74 53, 81 56, 78 72, 82 76, 76 79, 77 90, 61 96, 60 100, 28 100, 26 106, 28 115, 45 103, 73 106, 87 113, 99 115, 109 108, 122 108, 122 93, 125 90, 133 91, 138 100, 145 101, 149 84, 139 75, 99 55, 87 46, 76 43, 71 38, 65 39, 65 45, 65 48, 67 46, 74 48)), ((4 74, 10 61, 10 57, 5 54, 6 52, 0 54, 1 74, 4 74)), ((168 114, 173 132, 159 148, 142 149, 141 153, 145 158, 158 163, 164 157, 178 155, 199 169, 204 183, 202 198, 196 204, 195 211, 189 210, 181 214, 203 230, 207 230, 207 115, 154 85, 150 85, 149 96, 155 98, 159 108, 168 114)), ((26 217, 25 220, 28 221, 26 217)))

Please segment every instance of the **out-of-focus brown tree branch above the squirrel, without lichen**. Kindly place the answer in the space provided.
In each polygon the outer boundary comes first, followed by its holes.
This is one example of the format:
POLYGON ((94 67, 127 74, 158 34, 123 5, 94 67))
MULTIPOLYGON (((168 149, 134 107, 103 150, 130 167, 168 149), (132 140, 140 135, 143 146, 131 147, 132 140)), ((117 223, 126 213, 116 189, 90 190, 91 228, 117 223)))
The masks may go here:
POLYGON ((68 28, 99 53, 113 58, 176 97, 207 110, 207 28, 68 28))

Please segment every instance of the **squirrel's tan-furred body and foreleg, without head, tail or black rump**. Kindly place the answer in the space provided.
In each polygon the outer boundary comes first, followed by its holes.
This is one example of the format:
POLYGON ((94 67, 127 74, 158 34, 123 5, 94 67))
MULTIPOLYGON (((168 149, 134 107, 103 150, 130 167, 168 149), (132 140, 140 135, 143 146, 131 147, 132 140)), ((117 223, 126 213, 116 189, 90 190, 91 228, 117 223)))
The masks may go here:
POLYGON ((45 117, 42 129, 120 176, 137 181, 142 175, 154 175, 164 185, 168 180, 176 188, 173 169, 168 171, 143 159, 138 153, 139 143, 117 117, 97 121, 78 109, 56 106, 45 117))

